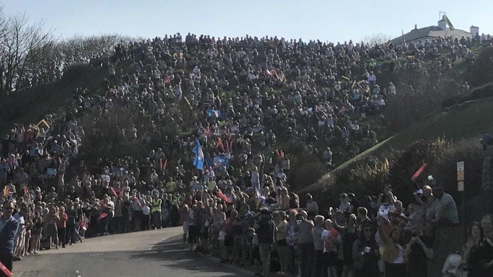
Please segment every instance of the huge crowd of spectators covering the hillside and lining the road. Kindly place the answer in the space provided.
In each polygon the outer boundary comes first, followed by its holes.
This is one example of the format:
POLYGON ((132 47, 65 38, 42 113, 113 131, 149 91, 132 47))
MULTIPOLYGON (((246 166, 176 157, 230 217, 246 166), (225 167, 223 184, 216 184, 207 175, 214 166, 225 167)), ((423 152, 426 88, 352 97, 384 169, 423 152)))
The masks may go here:
MULTIPOLYGON (((278 140, 308 145, 331 168, 378 143, 358 120, 412 89, 380 87, 378 72, 426 61, 429 74, 440 74, 457 59, 473 60, 468 47, 478 43, 176 34, 119 44, 91 61, 108 67, 104 95, 78 89, 64 119, 15 125, 3 141, 0 261, 12 269, 41 249, 183 226, 191 250, 254 264, 262 276, 426 276, 433 232, 458 224, 439 180, 430 178, 407 207, 387 184, 382 194, 343 194, 340 206, 319 209, 311 195, 294 193, 289 153, 278 140), (128 113, 135 117, 119 139, 150 151, 86 164, 81 145, 101 130, 86 130, 84 119, 128 113)), ((471 276, 493 269, 492 228, 489 216, 472 225, 463 255, 471 276)))

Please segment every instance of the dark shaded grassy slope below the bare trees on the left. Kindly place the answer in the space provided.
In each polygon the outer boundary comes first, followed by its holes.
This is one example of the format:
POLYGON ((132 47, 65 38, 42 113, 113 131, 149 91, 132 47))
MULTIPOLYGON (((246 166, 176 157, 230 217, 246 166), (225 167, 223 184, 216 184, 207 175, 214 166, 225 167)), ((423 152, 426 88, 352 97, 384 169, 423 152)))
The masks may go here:
POLYGON ((72 66, 60 81, 25 88, 3 97, 0 102, 0 134, 5 134, 13 123, 38 123, 45 115, 61 117, 72 101, 76 87, 88 88, 91 93, 102 92, 101 84, 107 69, 91 69, 87 65, 72 66))

